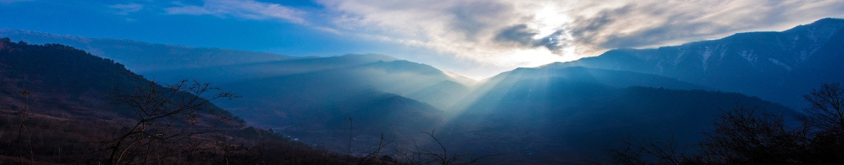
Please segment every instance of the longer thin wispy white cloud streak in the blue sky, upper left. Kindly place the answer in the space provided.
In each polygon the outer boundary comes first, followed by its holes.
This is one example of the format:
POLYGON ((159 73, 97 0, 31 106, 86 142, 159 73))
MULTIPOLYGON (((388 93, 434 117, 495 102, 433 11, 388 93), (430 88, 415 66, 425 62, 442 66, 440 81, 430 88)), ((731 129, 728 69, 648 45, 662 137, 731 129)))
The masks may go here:
POLYGON ((306 12, 275 3, 254 0, 205 0, 203 5, 185 5, 164 8, 167 14, 214 15, 240 19, 276 19, 295 24, 308 24, 303 17, 306 12))

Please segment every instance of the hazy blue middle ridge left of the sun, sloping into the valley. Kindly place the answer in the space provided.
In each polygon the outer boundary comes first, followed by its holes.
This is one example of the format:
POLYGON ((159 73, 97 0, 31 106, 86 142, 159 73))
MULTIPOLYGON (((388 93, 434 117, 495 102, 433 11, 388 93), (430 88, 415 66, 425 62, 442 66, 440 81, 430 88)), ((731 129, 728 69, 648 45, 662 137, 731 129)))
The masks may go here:
MULTIPOLYGON (((333 84, 357 88, 357 90, 371 89, 382 93, 396 93, 404 97, 419 99, 440 109, 448 108, 446 106, 448 103, 441 102, 446 100, 437 99, 442 98, 441 95, 459 97, 460 94, 468 92, 468 85, 475 83, 466 77, 443 72, 425 64, 376 54, 297 58, 284 61, 149 72, 149 74, 165 81, 178 80, 180 77, 191 77, 208 82, 246 87, 253 87, 248 83, 282 81, 281 79, 284 79, 284 77, 307 77, 314 79, 313 81, 335 82, 333 84), (449 91, 431 88, 438 83, 445 82, 457 84, 451 86, 454 90, 449 91)), ((287 83, 303 83, 298 80, 284 81, 287 83)), ((244 92, 249 93, 248 91, 244 92)), ((447 101, 452 102, 453 100, 447 101)))

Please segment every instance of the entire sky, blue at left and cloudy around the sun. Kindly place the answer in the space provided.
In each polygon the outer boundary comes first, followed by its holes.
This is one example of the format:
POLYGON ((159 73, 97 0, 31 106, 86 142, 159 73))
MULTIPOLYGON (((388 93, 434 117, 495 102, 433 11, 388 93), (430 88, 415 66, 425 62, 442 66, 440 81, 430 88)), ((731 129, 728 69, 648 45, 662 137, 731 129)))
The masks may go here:
POLYGON ((0 0, 0 28, 288 56, 376 53, 475 79, 830 17, 844 18, 844 1, 0 0))

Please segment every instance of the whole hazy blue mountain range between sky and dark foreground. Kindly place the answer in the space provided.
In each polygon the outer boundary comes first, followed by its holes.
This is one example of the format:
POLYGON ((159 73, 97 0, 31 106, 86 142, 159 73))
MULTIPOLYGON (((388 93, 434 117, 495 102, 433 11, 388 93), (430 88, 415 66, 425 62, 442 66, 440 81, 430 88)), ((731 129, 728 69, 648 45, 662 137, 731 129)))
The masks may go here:
MULTIPOLYGON (((799 115, 794 109, 805 107, 802 96, 812 88, 844 82, 838 64, 844 61, 844 19, 611 50, 481 81, 376 54, 294 57, 18 29, 0 29, 0 36, 70 45, 165 83, 187 78, 218 84, 242 95, 214 104, 243 125, 335 152, 349 149, 349 141, 364 152, 381 134, 410 144, 425 137, 419 132, 436 130, 456 151, 506 153, 496 159, 503 163, 582 163, 602 157, 625 136, 673 135, 692 144, 721 109, 740 105, 799 115)), ((67 61, 34 63, 55 62, 67 61)))

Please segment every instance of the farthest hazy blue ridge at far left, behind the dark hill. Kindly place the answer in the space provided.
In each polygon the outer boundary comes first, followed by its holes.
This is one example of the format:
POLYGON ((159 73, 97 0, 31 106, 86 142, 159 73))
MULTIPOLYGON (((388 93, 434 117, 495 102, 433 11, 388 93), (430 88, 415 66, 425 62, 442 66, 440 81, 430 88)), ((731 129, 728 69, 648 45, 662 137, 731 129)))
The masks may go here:
POLYGON ((218 67, 295 58, 266 52, 162 45, 135 40, 87 38, 73 35, 52 35, 21 29, 0 29, 0 37, 24 40, 30 44, 73 46, 95 56, 118 61, 129 70, 142 75, 146 75, 148 72, 163 72, 174 69, 218 67))

